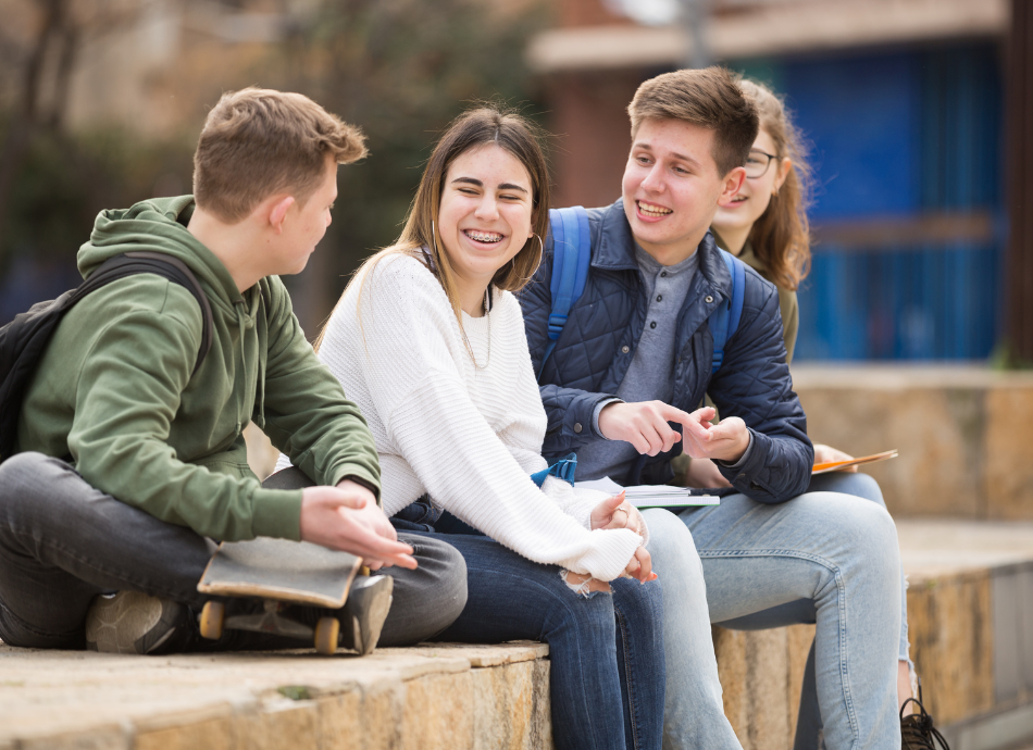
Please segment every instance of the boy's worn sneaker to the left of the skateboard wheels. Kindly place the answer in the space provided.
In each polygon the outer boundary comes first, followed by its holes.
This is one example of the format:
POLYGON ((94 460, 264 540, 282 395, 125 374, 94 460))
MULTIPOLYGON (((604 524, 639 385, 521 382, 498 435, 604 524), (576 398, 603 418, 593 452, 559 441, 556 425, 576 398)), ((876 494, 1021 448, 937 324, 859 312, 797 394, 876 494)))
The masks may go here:
POLYGON ((188 624, 188 610, 169 599, 119 591, 94 599, 86 613, 86 648, 103 653, 153 653, 188 624))

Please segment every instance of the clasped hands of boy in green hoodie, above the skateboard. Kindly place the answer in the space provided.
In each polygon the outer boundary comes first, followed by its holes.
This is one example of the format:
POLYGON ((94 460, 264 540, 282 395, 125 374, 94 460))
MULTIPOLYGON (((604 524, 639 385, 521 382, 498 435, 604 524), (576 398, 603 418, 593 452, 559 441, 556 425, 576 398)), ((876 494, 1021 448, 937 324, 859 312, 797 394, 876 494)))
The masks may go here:
POLYGON ((374 571, 416 566, 412 548, 398 541, 373 492, 349 479, 301 490, 301 538, 357 554, 374 571))

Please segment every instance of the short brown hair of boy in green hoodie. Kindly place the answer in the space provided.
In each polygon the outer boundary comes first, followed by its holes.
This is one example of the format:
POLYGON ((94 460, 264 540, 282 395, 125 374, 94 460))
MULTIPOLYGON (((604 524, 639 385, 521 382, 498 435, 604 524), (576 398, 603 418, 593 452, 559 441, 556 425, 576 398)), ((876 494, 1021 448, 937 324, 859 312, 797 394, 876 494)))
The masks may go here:
POLYGON ((208 113, 194 153, 194 199, 236 224, 275 192, 300 204, 326 174, 326 160, 366 154, 359 128, 300 93, 246 88, 224 93, 208 113))

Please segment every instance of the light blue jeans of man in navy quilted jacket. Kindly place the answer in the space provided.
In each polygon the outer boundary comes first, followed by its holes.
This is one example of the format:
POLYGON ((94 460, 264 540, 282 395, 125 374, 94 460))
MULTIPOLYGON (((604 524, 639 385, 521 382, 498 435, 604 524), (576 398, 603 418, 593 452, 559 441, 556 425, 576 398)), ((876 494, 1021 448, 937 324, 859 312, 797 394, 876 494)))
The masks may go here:
MULTIPOLYGON (((689 540, 671 514, 645 516, 664 590, 664 748, 739 747, 709 663, 711 622, 740 629, 817 623, 812 691, 825 746, 900 746, 900 557, 884 508, 824 491, 777 505, 732 495, 681 514, 689 540), (698 603, 700 565, 707 609, 698 603)), ((817 729, 809 739, 817 742, 817 729)))

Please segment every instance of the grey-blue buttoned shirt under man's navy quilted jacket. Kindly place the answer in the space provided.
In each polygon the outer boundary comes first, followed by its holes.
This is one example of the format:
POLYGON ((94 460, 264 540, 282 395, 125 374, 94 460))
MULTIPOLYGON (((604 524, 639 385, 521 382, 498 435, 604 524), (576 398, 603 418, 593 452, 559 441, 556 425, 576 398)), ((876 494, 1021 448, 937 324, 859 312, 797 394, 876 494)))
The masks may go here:
MULTIPOLYGON (((688 295, 693 276, 699 265, 699 255, 694 252, 676 265, 663 266, 656 259, 635 246, 635 260, 642 273, 649 308, 642 337, 632 363, 618 387, 621 401, 665 401, 674 395, 674 361, 677 314, 688 295)), ((612 401, 596 408, 593 416, 596 435, 599 435, 599 412, 612 401)), ((638 452, 623 440, 593 440, 577 451, 577 479, 598 479, 610 476, 620 482, 631 471, 638 452)))

